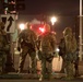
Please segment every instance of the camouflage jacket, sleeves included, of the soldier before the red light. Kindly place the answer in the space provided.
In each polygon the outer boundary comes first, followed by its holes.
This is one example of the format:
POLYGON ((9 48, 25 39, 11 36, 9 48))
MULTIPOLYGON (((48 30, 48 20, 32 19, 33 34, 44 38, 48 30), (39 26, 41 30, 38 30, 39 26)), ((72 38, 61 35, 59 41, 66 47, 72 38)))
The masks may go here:
POLYGON ((56 49, 56 35, 54 33, 44 33, 38 37, 39 49, 43 52, 55 52, 56 49))

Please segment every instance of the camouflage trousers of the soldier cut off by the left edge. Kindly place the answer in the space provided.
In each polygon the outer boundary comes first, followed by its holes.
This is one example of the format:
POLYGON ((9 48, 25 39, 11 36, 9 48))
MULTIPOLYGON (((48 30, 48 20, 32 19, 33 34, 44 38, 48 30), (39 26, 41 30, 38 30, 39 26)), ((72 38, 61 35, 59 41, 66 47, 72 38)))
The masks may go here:
POLYGON ((4 72, 7 62, 7 55, 0 55, 0 73, 4 72))

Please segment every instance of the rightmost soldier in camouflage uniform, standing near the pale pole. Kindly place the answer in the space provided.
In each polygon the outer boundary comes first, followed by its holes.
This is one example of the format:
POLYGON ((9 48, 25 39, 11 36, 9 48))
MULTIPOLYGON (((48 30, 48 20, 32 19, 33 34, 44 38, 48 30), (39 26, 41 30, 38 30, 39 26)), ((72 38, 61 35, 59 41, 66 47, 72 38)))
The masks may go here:
POLYGON ((72 34, 71 27, 66 27, 63 31, 63 38, 66 43, 66 55, 64 55, 64 68, 68 80, 73 79, 73 62, 75 58, 75 50, 76 50, 76 39, 72 34))

